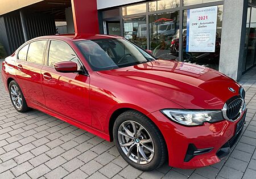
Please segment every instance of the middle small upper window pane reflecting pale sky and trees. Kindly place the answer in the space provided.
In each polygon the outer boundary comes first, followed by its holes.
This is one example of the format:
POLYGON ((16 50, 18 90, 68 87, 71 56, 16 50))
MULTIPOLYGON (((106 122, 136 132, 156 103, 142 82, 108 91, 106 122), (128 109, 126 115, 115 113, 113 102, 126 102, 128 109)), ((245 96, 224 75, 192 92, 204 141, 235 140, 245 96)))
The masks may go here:
POLYGON ((148 3, 148 11, 158 11, 179 7, 180 0, 160 0, 148 3))

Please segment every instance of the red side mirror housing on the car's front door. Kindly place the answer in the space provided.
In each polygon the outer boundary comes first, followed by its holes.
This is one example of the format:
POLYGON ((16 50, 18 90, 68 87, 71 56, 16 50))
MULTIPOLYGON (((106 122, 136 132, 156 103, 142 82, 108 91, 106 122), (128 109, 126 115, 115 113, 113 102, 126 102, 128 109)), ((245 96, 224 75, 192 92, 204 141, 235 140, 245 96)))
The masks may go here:
POLYGON ((77 64, 75 62, 56 62, 54 63, 54 68, 57 72, 60 73, 77 73, 80 70, 77 70, 77 64))

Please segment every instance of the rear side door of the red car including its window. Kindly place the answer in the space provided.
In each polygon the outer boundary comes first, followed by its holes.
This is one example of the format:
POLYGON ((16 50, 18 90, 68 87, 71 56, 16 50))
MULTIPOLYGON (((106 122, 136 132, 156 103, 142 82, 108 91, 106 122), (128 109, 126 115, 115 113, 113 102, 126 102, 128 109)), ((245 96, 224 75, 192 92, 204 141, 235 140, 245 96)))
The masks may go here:
POLYGON ((28 105, 44 106, 41 85, 41 69, 45 56, 47 40, 30 42, 19 50, 16 61, 16 78, 28 105))

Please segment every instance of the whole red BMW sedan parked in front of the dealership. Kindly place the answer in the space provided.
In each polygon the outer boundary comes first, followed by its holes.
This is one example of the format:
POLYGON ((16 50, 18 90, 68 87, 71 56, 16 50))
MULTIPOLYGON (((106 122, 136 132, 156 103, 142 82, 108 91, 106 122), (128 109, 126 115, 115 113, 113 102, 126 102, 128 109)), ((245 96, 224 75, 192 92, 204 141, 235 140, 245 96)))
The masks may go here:
POLYGON ((240 138, 245 90, 207 67, 157 59, 108 35, 37 37, 2 63, 18 112, 33 108, 108 141, 142 171, 200 168, 240 138))

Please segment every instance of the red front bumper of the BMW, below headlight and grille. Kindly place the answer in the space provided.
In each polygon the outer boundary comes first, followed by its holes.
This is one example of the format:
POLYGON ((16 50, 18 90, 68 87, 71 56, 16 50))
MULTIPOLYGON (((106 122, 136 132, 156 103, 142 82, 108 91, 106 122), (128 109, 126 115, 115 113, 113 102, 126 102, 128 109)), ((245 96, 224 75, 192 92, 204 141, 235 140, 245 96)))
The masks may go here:
POLYGON ((204 123, 203 126, 187 127, 168 120, 161 112, 157 111, 148 115, 159 127, 166 140, 168 159, 171 167, 199 168, 218 163, 230 154, 242 133, 243 112, 240 119, 235 122, 223 120, 216 123, 204 123), (241 130, 236 131, 237 124, 242 123, 241 130), (189 146, 195 146, 188 157, 189 146), (204 150, 201 152, 200 150, 204 150), (200 153, 201 152, 201 153, 200 153))

